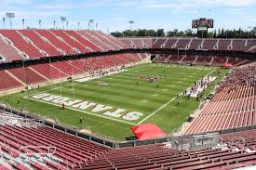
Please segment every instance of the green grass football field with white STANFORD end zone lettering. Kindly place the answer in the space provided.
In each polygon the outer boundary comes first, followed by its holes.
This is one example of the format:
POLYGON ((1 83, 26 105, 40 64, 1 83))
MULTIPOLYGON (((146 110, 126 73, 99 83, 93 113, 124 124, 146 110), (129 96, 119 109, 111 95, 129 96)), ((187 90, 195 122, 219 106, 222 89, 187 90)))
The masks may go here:
MULTIPOLYGON (((48 85, 39 89, 28 90, 25 93, 17 93, 1 97, 0 102, 25 111, 33 112, 43 118, 58 120, 61 124, 75 126, 78 129, 89 128, 92 134, 115 140, 124 140, 132 137, 129 127, 135 124, 154 123, 160 126, 166 133, 175 132, 186 118, 195 111, 199 102, 195 98, 179 98, 177 95, 193 85, 195 81, 207 74, 216 74, 216 68, 203 66, 178 67, 176 65, 164 66, 145 64, 135 66, 126 72, 91 80, 85 83, 65 82, 57 85, 48 85), (155 83, 149 83, 147 76, 158 77, 155 83), (138 82, 138 85, 137 85, 138 82), (159 85, 157 88, 156 85, 159 85), (89 103, 109 106, 104 111, 93 111, 95 105, 87 109, 67 107, 61 110, 61 104, 36 99, 36 94, 47 93, 69 99, 79 99, 89 103), (17 100, 20 100, 20 104, 17 100), (117 109, 115 116, 106 114, 117 109), (140 112, 137 120, 125 119, 128 112, 140 112), (80 117, 83 123, 79 124, 80 117)), ((216 75, 216 84, 222 79, 224 73, 216 75)), ((209 86, 204 96, 207 96, 214 85, 209 86)))

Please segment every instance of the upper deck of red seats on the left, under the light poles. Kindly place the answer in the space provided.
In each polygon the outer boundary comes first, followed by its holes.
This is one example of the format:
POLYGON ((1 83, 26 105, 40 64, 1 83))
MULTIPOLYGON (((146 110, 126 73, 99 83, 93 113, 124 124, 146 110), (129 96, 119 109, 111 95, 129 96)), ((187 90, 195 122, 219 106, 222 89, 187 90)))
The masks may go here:
POLYGON ((39 59, 128 48, 100 31, 1 30, 2 61, 39 59))

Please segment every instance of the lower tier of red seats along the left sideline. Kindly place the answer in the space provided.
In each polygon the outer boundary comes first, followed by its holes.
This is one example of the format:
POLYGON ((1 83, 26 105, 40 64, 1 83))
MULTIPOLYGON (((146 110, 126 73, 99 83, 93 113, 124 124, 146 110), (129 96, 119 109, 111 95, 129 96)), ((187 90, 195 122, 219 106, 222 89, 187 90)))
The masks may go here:
POLYGON ((85 72, 99 72, 141 61, 144 54, 118 54, 97 58, 64 60, 0 71, 0 91, 25 85, 40 85, 50 80, 67 78, 85 72))

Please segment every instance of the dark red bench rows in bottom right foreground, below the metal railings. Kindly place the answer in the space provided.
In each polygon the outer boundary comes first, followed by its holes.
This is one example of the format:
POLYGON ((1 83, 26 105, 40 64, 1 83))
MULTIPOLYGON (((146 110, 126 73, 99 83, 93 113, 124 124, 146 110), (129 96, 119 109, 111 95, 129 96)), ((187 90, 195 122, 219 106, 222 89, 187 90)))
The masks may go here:
POLYGON ((161 145, 111 150, 76 169, 232 169, 256 163, 255 152, 172 150, 161 145))

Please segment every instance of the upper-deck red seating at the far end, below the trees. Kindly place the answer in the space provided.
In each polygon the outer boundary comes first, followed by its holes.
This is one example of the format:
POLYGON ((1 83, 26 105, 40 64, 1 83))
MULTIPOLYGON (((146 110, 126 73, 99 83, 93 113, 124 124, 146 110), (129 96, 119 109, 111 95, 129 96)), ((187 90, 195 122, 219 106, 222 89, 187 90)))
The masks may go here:
POLYGON ((201 38, 119 38, 130 48, 175 48, 203 50, 233 50, 254 52, 254 39, 201 39, 201 38))

